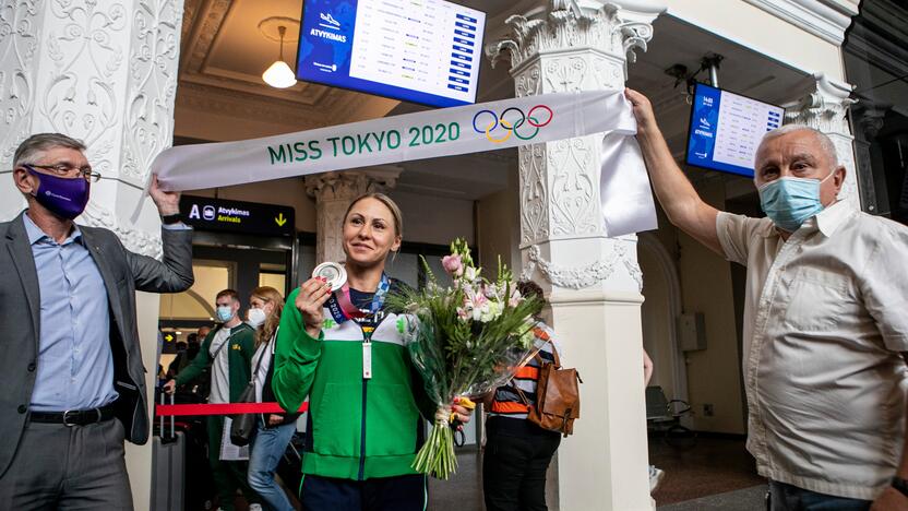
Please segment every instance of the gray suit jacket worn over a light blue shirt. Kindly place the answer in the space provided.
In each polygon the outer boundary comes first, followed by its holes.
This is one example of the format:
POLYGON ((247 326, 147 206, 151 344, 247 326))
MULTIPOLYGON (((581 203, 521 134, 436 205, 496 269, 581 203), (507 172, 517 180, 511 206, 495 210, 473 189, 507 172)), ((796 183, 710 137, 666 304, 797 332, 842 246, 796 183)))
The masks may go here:
MULTIPOLYGON (((25 428, 40 340, 38 274, 22 214, 0 223, 0 476, 9 468, 25 428)), ((150 424, 135 292, 179 293, 192 285, 192 230, 163 229, 164 262, 159 262, 130 252, 108 229, 79 228, 107 288, 113 387, 120 394, 117 416, 129 441, 145 443, 150 424)))

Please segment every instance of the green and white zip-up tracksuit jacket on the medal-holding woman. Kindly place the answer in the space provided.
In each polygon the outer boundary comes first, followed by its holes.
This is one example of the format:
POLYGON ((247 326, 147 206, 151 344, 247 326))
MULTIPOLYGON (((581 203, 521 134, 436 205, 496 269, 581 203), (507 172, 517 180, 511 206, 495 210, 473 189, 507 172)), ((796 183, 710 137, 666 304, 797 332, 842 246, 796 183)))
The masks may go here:
POLYGON ((404 346, 403 318, 379 312, 372 378, 365 379, 362 328, 353 320, 338 324, 326 307, 324 328, 312 338, 294 306, 298 294, 287 297, 280 318, 272 389, 287 411, 309 396, 302 473, 355 480, 416 474, 410 464, 422 442, 419 408, 429 416, 434 407, 404 346))

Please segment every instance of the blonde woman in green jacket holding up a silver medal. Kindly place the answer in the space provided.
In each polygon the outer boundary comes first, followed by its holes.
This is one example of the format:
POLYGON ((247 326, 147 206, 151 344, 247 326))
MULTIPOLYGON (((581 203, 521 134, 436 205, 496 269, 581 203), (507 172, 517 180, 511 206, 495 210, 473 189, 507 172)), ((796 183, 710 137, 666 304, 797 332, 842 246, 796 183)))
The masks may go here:
MULTIPOLYGON (((435 407, 384 304, 401 285, 384 268, 402 230, 394 201, 360 197, 342 226, 347 284, 332 293, 313 277, 287 298, 273 387, 284 409, 309 396, 303 510, 426 509, 426 477, 410 465, 425 428, 420 411, 431 417, 435 407)), ((469 419, 463 407, 452 409, 469 419)))

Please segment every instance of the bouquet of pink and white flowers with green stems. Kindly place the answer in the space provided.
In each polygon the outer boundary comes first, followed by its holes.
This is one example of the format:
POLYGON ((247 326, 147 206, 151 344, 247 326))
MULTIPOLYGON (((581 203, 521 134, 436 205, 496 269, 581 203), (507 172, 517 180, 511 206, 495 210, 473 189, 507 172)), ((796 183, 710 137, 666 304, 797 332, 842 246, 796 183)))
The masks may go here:
MULTIPOLYGON (((454 283, 438 284, 425 259, 429 278, 422 290, 389 296, 403 312, 404 337, 410 358, 435 404, 432 431, 414 461, 414 470, 440 479, 456 471, 450 405, 459 396, 479 396, 509 381, 538 348, 533 316, 541 304, 523 297, 511 272, 499 259, 494 281, 481 276, 463 239, 451 243, 442 265, 454 283)), ((471 405, 468 400, 462 405, 471 405)))

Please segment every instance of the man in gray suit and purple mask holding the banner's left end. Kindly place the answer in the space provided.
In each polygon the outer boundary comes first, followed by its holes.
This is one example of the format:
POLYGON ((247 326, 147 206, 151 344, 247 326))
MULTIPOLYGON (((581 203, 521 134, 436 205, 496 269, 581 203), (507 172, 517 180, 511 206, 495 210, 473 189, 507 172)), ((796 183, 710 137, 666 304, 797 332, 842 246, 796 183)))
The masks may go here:
POLYGON ((148 439, 135 290, 192 285, 192 229, 157 180, 164 261, 110 230, 77 226, 85 146, 43 133, 15 152, 28 209, 0 223, 0 502, 7 509, 132 509, 123 439, 148 439))

